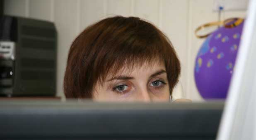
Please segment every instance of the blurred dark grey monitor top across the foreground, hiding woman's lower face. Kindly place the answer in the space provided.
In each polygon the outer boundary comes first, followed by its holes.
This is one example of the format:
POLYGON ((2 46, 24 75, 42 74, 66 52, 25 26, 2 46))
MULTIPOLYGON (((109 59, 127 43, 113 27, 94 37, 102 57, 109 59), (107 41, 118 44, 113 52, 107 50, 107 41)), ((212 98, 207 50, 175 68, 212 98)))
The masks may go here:
POLYGON ((215 140, 223 102, 0 102, 0 139, 215 140))

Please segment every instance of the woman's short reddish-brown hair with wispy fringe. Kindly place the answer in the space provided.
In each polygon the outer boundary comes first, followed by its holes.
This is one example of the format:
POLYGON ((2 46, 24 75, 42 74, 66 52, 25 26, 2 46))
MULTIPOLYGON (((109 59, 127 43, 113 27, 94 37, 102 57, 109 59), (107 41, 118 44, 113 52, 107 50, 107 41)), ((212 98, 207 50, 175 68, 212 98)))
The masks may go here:
POLYGON ((92 98, 95 84, 125 65, 164 62, 170 93, 178 81, 180 63, 168 38, 138 17, 114 16, 87 27, 72 43, 64 77, 67 98, 92 98))

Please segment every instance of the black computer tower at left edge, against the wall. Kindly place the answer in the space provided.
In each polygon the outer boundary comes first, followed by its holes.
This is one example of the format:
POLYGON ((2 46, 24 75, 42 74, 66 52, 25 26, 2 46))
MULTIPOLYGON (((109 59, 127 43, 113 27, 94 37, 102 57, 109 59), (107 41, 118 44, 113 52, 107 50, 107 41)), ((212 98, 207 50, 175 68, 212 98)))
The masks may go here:
POLYGON ((0 17, 0 95, 56 95, 57 32, 36 19, 0 17))

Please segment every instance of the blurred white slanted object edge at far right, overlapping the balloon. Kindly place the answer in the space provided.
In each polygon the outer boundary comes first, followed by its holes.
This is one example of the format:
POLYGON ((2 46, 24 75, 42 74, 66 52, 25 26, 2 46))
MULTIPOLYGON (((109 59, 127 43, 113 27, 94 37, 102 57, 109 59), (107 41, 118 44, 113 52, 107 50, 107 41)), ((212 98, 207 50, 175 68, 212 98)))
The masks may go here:
POLYGON ((256 0, 250 0, 217 140, 256 140, 256 0))

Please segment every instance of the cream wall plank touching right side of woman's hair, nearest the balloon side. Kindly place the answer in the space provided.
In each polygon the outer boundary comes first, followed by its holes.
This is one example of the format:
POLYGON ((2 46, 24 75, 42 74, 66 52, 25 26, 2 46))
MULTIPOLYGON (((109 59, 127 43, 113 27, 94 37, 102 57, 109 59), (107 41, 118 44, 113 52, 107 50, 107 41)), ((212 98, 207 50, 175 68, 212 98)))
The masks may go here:
MULTIPOLYGON (((188 0, 162 0, 162 31, 169 37, 181 62, 180 82, 186 89, 188 0)), ((185 91, 185 90, 184 90, 185 91)))

